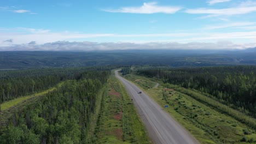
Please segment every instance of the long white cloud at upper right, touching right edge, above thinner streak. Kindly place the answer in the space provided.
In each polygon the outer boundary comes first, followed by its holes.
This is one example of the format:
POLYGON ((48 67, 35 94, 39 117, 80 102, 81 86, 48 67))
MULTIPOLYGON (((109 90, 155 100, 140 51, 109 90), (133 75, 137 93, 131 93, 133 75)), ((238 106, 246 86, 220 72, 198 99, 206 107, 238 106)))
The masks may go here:
POLYGON ((208 14, 208 17, 220 16, 220 15, 242 15, 253 13, 256 11, 256 6, 247 6, 247 7, 235 7, 235 8, 226 8, 226 9, 187 9, 185 13, 188 14, 208 14))

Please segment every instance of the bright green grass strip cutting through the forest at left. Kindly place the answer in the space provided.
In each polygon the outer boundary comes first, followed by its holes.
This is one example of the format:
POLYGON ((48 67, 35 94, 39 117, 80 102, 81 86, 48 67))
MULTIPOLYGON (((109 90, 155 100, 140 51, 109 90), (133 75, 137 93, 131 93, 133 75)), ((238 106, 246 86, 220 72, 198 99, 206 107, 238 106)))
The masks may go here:
MULTIPOLYGON (((61 86, 62 84, 63 84, 63 82, 60 82, 57 85, 57 87, 61 86)), ((2 111, 7 110, 7 109, 9 109, 12 106, 18 105, 19 103, 21 103, 22 101, 25 101, 27 99, 30 99, 30 98, 33 98, 33 97, 38 97, 38 96, 44 95, 44 94, 46 94, 48 92, 54 91, 54 89, 56 89, 56 87, 47 89, 47 90, 45 90, 43 92, 40 92, 40 93, 31 94, 31 95, 28 95, 28 96, 25 96, 25 97, 19 97, 19 98, 16 98, 14 100, 9 100, 9 101, 1 104, 2 111)))

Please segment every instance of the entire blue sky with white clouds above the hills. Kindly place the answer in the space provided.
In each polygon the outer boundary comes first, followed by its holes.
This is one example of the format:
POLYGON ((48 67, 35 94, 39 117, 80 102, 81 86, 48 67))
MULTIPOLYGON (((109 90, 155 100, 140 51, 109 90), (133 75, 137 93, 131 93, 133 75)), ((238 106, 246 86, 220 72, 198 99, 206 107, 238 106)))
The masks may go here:
POLYGON ((5 0, 0 17, 0 51, 256 47, 250 0, 5 0))

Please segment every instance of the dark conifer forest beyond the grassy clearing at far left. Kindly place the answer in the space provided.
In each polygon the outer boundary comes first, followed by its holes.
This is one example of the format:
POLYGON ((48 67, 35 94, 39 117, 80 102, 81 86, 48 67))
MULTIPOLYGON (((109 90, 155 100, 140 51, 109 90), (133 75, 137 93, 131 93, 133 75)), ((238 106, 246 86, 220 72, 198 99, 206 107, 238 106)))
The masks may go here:
POLYGON ((0 71, 0 104, 55 86, 60 81, 80 79, 85 70, 110 70, 115 66, 0 71))

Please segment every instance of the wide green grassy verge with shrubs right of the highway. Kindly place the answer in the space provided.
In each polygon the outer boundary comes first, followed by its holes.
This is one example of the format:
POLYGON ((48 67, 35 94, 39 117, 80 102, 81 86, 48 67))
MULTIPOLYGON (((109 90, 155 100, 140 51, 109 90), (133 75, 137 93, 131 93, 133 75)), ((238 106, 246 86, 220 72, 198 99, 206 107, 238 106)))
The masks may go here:
POLYGON ((164 108, 165 111, 176 118, 201 143, 253 143, 256 140, 254 129, 222 111, 213 109, 211 105, 163 86, 147 89, 136 81, 143 79, 147 83, 152 82, 146 77, 125 77, 143 88, 161 106, 168 105, 164 108))

